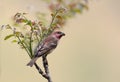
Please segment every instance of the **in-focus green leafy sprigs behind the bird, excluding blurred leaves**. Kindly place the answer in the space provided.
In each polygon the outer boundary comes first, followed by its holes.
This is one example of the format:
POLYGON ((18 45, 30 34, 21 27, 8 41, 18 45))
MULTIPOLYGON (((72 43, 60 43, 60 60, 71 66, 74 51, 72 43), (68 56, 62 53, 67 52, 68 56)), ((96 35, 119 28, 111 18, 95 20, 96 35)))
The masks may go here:
POLYGON ((63 13, 63 10, 63 8, 60 8, 51 14, 52 20, 49 26, 43 25, 40 20, 29 20, 26 17, 27 13, 16 13, 13 17, 14 26, 16 27, 12 27, 9 24, 2 26, 2 28, 12 31, 12 34, 7 35, 4 40, 14 37, 12 42, 17 43, 22 49, 25 49, 30 58, 32 58, 35 47, 55 29, 59 28, 58 23, 61 23, 62 20, 60 14, 63 13))

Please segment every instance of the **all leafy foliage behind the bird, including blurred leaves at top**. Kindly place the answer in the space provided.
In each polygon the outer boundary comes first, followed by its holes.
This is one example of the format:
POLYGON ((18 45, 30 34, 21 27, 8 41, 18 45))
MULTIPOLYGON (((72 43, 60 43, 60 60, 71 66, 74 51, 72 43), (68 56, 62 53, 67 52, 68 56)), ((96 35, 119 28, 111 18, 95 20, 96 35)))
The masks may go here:
POLYGON ((84 9, 88 10, 88 0, 44 0, 48 3, 51 13, 51 21, 44 22, 45 13, 39 14, 38 21, 30 20, 26 17, 27 13, 16 13, 13 17, 14 27, 3 25, 2 28, 9 29, 12 34, 7 35, 4 40, 13 38, 12 42, 25 49, 30 58, 34 56, 34 48, 45 37, 54 30, 62 28, 68 18, 74 17, 77 13, 82 13, 84 9))

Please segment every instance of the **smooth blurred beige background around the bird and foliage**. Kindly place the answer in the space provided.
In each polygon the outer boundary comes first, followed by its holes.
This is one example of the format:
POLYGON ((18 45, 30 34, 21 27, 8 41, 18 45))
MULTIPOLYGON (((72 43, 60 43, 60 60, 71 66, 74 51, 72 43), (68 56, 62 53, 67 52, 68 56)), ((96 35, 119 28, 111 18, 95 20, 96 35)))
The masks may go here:
MULTIPOLYGON (((120 0, 90 0, 89 10, 70 19, 66 36, 48 56, 53 82, 120 82, 120 0)), ((48 12, 41 0, 3 0, 0 25, 17 12, 48 12)), ((4 41, 0 31, 0 82, 47 82, 26 66, 27 53, 4 41)), ((41 62, 39 59, 37 62, 41 62)), ((42 64, 41 64, 42 66, 42 64)))

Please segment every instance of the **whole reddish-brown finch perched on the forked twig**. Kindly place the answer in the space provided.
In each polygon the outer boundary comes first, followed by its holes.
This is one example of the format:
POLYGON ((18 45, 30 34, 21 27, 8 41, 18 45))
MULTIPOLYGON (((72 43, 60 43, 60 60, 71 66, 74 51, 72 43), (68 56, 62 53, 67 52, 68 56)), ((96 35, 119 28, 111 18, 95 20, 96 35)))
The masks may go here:
POLYGON ((47 38, 45 38, 36 48, 35 55, 31 59, 31 61, 27 64, 27 66, 32 67, 36 60, 41 56, 47 56, 47 54, 51 53, 56 47, 61 39, 62 36, 65 34, 61 31, 53 32, 47 38))

